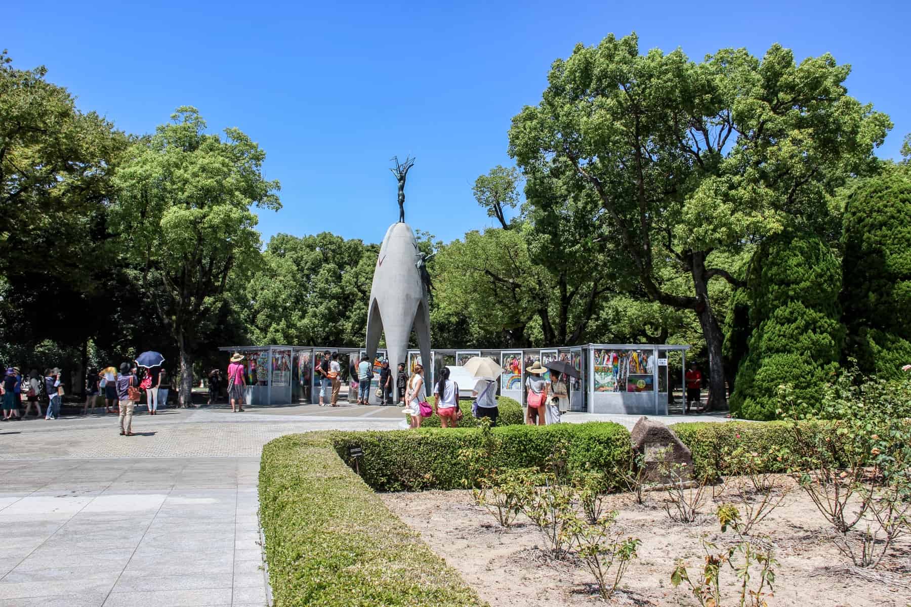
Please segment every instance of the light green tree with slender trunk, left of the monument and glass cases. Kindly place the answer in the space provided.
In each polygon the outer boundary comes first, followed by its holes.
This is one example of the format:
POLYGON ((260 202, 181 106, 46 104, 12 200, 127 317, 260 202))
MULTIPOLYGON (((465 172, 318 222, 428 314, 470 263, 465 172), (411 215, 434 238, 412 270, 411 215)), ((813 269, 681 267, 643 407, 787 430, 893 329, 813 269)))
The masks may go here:
POLYGON ((229 280, 246 281, 260 263, 251 207, 281 208, 279 183, 261 175, 259 146, 237 128, 208 135, 194 107, 130 149, 118 168, 114 231, 141 259, 143 290, 177 340, 180 402, 189 403, 193 355, 215 330, 229 280))

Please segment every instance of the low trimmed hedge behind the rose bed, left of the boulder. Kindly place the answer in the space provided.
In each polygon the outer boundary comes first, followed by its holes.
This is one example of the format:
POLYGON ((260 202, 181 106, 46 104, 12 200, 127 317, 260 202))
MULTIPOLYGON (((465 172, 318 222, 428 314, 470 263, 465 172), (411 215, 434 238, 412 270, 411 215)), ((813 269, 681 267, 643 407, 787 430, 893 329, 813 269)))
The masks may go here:
MULTIPOLYGON (((505 426, 491 431, 496 442, 487 465, 491 468, 543 469, 548 457, 565 442, 568 470, 602 470, 610 486, 619 486, 613 470, 630 462, 630 432, 602 421, 552 426, 505 426)), ((349 465, 349 447, 360 447, 358 468, 363 481, 377 491, 419 491, 464 487, 470 477, 459 451, 482 446, 474 428, 333 432, 339 456, 349 465)))

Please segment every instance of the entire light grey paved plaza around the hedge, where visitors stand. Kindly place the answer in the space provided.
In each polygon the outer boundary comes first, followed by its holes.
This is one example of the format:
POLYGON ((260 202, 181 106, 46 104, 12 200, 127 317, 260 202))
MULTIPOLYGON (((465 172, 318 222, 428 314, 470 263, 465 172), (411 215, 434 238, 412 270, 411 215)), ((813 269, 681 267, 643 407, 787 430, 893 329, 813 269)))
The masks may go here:
MULTIPOLYGON (((592 419, 631 427, 638 417, 566 417, 592 419)), ((397 407, 213 406, 141 413, 133 437, 119 436, 114 415, 2 422, 0 607, 266 605, 262 445, 403 420, 397 407)))

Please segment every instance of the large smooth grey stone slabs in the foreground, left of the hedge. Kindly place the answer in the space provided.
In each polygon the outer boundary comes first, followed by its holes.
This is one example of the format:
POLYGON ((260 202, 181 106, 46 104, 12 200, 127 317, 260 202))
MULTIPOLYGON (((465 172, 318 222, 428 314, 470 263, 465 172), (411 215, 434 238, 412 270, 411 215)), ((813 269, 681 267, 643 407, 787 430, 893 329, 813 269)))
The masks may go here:
POLYGON ((22 464, 0 460, 0 474, 27 470, 29 479, 0 501, 0 607, 266 604, 256 486, 238 482, 259 458, 22 464), (180 486, 197 472, 228 486, 180 486), (106 486, 46 490, 85 477, 106 486), (117 486, 126 480, 133 485, 117 486))

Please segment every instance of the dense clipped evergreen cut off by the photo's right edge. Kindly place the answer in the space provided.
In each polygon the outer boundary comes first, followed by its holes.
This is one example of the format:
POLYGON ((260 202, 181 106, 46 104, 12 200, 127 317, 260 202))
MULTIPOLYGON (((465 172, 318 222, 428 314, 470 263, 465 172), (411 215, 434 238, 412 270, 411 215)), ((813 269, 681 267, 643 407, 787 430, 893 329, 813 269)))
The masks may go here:
POLYGON ((846 353, 864 373, 896 379, 911 363, 911 175, 885 167, 844 211, 846 353))

